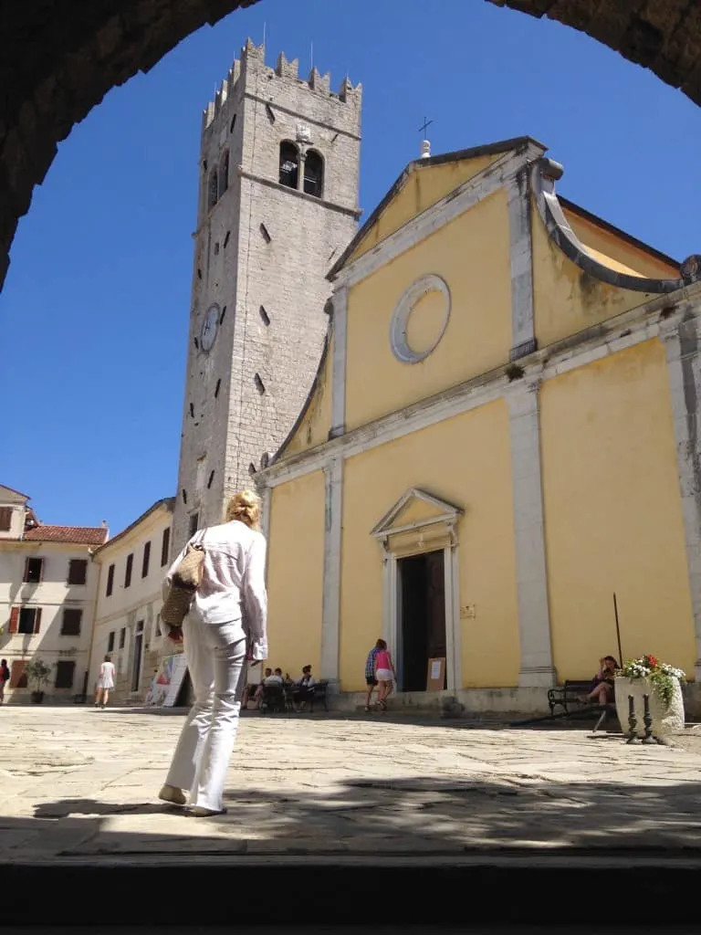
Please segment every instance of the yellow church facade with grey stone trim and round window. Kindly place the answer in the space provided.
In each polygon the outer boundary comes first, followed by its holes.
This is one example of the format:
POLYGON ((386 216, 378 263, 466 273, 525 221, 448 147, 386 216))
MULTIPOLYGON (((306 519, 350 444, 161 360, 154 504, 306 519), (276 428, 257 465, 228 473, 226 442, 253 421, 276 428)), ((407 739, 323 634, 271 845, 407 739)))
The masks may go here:
POLYGON ((398 703, 538 710, 618 655, 614 593, 626 657, 701 673, 697 258, 559 198, 545 152, 408 165, 256 475, 271 661, 350 704, 381 636, 398 703))

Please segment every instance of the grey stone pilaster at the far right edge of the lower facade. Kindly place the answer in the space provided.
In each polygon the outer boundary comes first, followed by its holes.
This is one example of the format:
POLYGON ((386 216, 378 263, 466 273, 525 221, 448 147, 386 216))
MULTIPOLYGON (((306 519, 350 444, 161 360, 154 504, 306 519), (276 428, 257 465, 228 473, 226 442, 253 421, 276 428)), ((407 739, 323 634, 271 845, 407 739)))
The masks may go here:
POLYGON ((695 680, 701 681, 701 358, 699 357, 701 304, 661 328, 665 342, 672 419, 677 442, 681 513, 686 539, 689 588, 696 640, 695 680))

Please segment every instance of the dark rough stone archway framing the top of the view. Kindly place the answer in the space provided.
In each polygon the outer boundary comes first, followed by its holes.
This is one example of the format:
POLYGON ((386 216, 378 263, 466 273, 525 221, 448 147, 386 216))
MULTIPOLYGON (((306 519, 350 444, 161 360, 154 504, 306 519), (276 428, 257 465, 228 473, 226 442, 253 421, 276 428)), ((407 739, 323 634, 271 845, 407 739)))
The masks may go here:
MULTIPOLYGON (((0 285, 18 219, 68 136, 110 88, 205 23, 259 0, 2 0, 0 285)), ((697 0, 487 0, 547 16, 644 65, 701 104, 697 0)))

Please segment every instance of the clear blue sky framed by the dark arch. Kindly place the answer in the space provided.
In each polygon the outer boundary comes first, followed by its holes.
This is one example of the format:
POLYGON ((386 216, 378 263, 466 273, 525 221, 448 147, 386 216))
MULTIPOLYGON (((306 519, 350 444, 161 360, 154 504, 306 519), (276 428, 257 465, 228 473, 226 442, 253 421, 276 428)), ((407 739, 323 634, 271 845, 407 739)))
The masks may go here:
POLYGON ((701 114, 555 22, 481 0, 263 0, 116 88, 59 147, 0 295, 0 482, 112 534, 175 492, 202 109, 238 50, 364 86, 365 216, 419 155, 530 135, 558 191, 682 260, 701 252, 701 114), (398 11, 401 8, 401 15, 398 11))

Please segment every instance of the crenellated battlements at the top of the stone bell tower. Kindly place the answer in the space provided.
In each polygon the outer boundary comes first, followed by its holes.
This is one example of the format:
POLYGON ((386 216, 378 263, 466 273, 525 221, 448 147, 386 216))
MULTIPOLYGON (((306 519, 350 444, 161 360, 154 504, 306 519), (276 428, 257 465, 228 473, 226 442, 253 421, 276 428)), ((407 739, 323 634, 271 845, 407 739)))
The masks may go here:
MULTIPOLYGON (((349 105, 355 111, 360 111, 363 85, 357 84, 353 87, 348 76, 340 83, 336 92, 331 90, 331 75, 327 72, 322 75, 316 67, 313 67, 308 74, 307 79, 299 77, 299 60, 289 60, 284 52, 280 52, 278 61, 274 68, 265 65, 265 43, 257 46, 252 39, 247 39, 246 44, 241 48, 240 59, 235 59, 234 64, 229 69, 229 73, 222 81, 222 86, 215 94, 214 100, 207 104, 203 112, 203 131, 216 119, 222 110, 224 104, 231 97, 239 81, 244 85, 255 83, 255 80, 283 80, 291 81, 296 85, 304 85, 310 91, 322 95, 327 99, 336 100, 349 105)), ((249 89, 250 90, 250 89, 249 89)))

